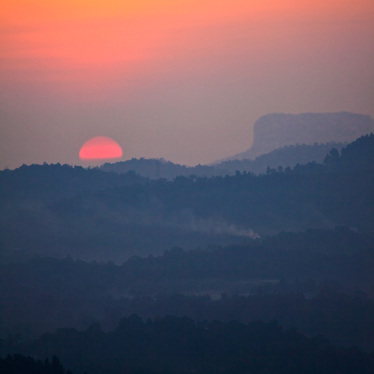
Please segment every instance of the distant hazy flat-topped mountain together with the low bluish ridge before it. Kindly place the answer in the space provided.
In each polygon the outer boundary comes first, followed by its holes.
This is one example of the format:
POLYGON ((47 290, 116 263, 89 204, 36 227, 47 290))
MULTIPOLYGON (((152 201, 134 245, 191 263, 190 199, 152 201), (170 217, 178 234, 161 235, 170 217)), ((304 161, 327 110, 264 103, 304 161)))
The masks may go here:
POLYGON ((137 174, 150 179, 172 180, 177 176, 212 177, 234 175, 236 171, 265 173, 270 167, 294 168, 297 164, 322 163, 332 148, 341 149, 362 135, 374 132, 370 116, 339 113, 273 113, 254 124, 254 141, 245 152, 213 165, 174 164, 164 159, 131 159, 100 167, 104 172, 137 174))

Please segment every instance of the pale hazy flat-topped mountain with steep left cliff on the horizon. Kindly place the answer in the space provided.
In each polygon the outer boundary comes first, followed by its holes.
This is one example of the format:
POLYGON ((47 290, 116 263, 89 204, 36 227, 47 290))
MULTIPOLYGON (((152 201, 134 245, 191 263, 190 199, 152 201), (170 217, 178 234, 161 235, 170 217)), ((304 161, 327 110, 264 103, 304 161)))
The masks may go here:
POLYGON ((254 124, 252 147, 228 160, 254 159, 286 145, 352 142, 374 132, 370 116, 339 113, 272 113, 254 124))

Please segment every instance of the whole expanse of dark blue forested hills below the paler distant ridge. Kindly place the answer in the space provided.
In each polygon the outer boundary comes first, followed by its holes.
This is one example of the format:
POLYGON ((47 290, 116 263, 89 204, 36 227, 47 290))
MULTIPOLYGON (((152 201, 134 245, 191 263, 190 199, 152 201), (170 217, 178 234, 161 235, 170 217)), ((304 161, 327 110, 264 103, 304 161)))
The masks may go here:
POLYGON ((0 369, 372 373, 374 135, 272 165, 1 171, 0 369))

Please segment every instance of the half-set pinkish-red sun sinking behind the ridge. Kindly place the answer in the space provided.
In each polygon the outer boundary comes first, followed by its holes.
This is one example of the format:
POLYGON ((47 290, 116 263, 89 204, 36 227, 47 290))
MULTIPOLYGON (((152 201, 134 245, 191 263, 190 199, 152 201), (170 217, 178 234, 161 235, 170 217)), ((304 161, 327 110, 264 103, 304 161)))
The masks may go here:
POLYGON ((122 148, 119 144, 106 136, 96 136, 87 140, 79 151, 81 160, 119 159, 122 148))

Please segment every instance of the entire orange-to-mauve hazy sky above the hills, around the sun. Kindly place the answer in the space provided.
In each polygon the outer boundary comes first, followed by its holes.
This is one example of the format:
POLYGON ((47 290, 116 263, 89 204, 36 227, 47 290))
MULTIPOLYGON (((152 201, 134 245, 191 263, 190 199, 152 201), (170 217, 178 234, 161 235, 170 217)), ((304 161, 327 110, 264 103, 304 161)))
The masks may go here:
POLYGON ((272 112, 374 117, 373 0, 0 0, 0 169, 212 162, 272 112))

